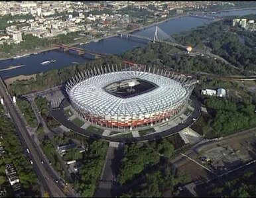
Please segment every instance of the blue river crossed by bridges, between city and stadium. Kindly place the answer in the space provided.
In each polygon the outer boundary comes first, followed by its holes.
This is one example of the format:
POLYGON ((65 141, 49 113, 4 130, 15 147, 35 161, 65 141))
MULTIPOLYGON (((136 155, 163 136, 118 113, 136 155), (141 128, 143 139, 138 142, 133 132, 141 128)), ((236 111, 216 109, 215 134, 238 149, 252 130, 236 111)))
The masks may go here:
MULTIPOLYGON (((243 16, 249 14, 256 14, 256 9, 220 12, 214 15, 243 16)), ((170 19, 169 21, 160 23, 158 26, 166 34, 180 34, 181 32, 191 30, 192 28, 196 28, 198 26, 208 25, 211 22, 212 20, 209 19, 200 19, 196 17, 181 17, 178 19, 170 19)), ((154 31, 154 27, 149 27, 135 32, 134 34, 149 36, 153 35, 154 31)), ((99 40, 99 42, 90 42, 88 44, 78 45, 78 47, 99 53, 120 55, 127 50, 142 47, 145 45, 147 45, 147 41, 135 38, 126 39, 115 36, 112 38, 105 38, 99 40)), ((0 75, 1 77, 3 77, 3 79, 7 79, 9 77, 15 77, 17 75, 31 75, 40 72, 46 72, 52 69, 65 68, 72 64, 87 62, 90 60, 92 60, 90 59, 90 57, 86 55, 78 55, 76 52, 62 52, 62 50, 50 50, 47 52, 41 52, 39 54, 32 54, 31 56, 23 58, 1 60, 0 70, 2 71, 0 72, 0 75), (41 62, 44 62, 46 60, 56 60, 56 62, 52 62, 46 65, 40 64, 41 62), (15 68, 15 66, 20 65, 24 66, 15 68), (6 68, 9 68, 10 66, 14 66, 14 68, 12 70, 4 70, 6 68)))

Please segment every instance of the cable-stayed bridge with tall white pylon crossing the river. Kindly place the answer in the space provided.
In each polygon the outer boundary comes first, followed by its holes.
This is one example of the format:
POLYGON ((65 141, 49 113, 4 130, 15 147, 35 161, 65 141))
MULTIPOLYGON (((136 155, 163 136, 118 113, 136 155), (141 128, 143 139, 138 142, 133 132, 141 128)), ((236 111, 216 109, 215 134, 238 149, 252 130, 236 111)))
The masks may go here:
POLYGON ((149 28, 147 31, 147 36, 139 35, 139 34, 125 34, 118 33, 121 38, 141 38, 143 40, 149 40, 151 42, 164 42, 166 44, 170 44, 172 46, 179 46, 181 48, 187 48, 187 46, 183 46, 179 44, 172 38, 170 35, 166 34, 163 30, 159 28, 159 26, 155 26, 155 28, 149 28))

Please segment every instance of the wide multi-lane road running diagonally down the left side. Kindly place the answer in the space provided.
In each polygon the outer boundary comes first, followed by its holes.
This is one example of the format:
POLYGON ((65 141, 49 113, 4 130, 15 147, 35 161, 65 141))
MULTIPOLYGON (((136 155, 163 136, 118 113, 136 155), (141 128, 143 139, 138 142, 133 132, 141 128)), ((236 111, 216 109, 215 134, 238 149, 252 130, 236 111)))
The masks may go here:
POLYGON ((36 150, 36 146, 34 146, 34 142, 32 142, 31 136, 29 136, 29 132, 27 131, 26 124, 24 123, 23 119, 19 115, 13 101, 7 92, 5 84, 3 83, 2 79, 0 79, 0 95, 4 99, 5 107, 15 124, 15 128, 17 130, 17 134, 21 139, 21 144, 25 146, 25 148, 29 148, 30 153, 29 157, 33 161, 33 167, 38 175, 38 179, 44 185, 46 191, 48 191, 50 197, 66 197, 66 195, 59 189, 59 187, 55 183, 55 177, 52 177, 51 174, 48 173, 48 166, 42 164, 42 156, 38 154, 38 150, 36 150))

